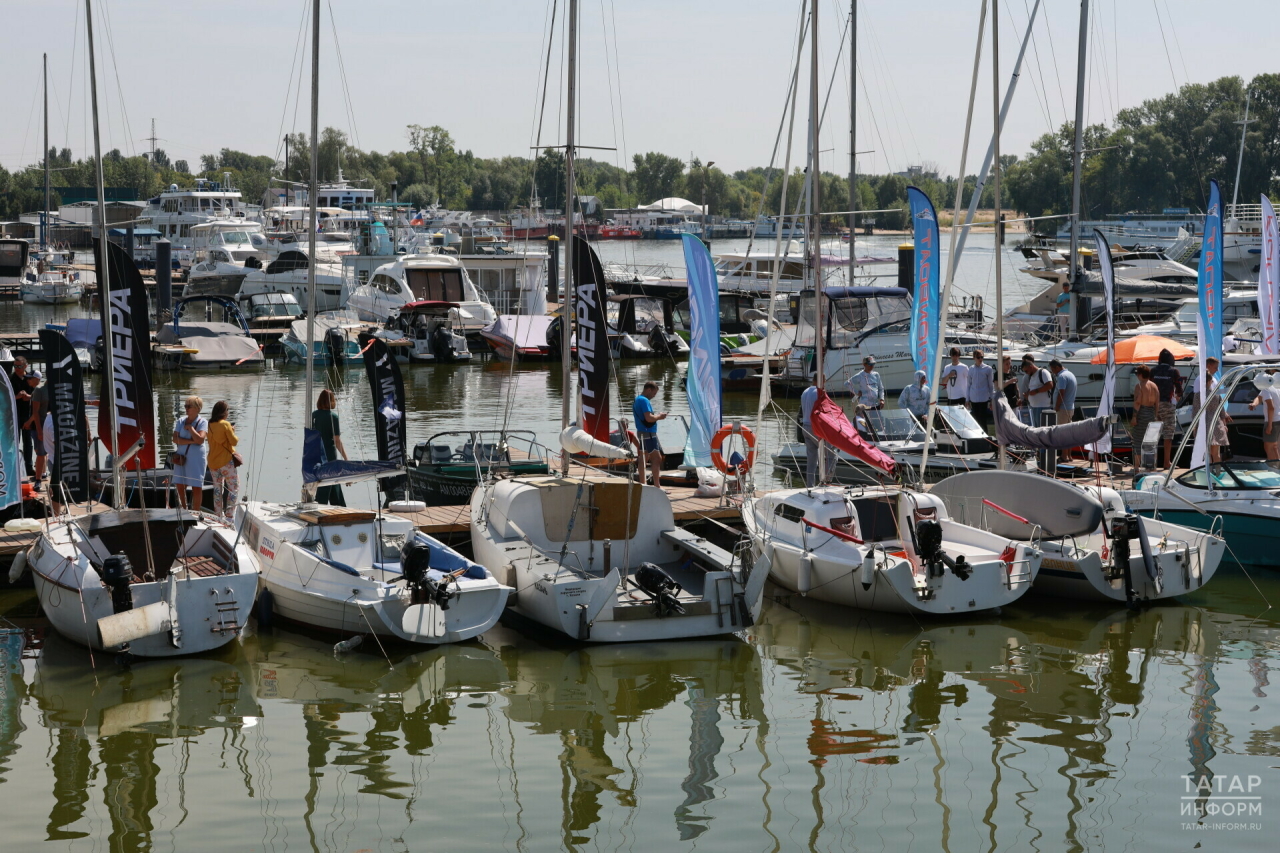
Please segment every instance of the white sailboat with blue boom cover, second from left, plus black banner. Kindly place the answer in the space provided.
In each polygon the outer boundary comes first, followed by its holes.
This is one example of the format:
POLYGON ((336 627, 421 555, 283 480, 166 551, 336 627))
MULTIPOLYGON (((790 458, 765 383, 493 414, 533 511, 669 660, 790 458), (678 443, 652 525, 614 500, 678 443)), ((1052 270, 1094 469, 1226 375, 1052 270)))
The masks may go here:
MULTIPOLYGON (((319 45, 320 0, 311 12, 319 45)), ((311 241, 316 234, 316 132, 319 59, 311 65, 311 241)), ((311 252, 315 257, 315 251, 311 252)), ((315 341, 315 264, 308 272, 306 350, 315 341)), ((489 629, 509 588, 444 543, 419 533, 410 519, 381 510, 315 502, 323 485, 404 478, 404 383, 387 342, 365 336, 378 424, 378 461, 326 460, 320 433, 303 429, 302 502, 248 501, 236 508, 236 529, 257 553, 260 612, 340 634, 374 634, 410 643, 456 643, 489 629)), ((311 416, 315 359, 306 360, 306 416, 311 416)), ((396 485, 384 487, 390 492, 396 485)), ((380 640, 379 640, 380 642, 380 640)))

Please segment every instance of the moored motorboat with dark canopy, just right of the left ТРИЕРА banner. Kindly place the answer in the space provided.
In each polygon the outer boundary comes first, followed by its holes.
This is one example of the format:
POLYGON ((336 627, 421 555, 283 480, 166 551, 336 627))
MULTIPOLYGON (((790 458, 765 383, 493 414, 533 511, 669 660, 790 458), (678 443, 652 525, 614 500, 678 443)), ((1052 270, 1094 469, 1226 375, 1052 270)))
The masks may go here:
POLYGON ((250 336, 239 306, 227 296, 184 296, 173 319, 156 329, 152 357, 161 368, 227 370, 261 368, 262 347, 250 336))

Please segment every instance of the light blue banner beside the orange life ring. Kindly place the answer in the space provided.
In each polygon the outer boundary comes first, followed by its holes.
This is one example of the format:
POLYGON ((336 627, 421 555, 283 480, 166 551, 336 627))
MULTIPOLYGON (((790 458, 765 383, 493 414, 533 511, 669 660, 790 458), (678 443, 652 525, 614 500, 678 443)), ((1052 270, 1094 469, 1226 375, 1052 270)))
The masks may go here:
POLYGON ((707 245, 684 234, 685 277, 689 279, 689 437, 685 465, 712 464, 712 435, 721 428, 719 288, 707 245))

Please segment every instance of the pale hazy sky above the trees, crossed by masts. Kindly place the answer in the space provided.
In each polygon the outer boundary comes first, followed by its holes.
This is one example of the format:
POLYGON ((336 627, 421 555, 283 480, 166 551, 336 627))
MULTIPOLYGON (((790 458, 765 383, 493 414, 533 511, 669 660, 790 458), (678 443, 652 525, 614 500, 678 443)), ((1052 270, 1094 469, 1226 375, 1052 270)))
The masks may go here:
MULTIPOLYGON (((540 110, 547 22, 557 0, 323 0, 320 126, 365 150, 406 150, 406 126, 439 124, 477 156, 527 156, 563 138, 567 0, 558 0, 549 91, 540 110), (335 37, 337 33, 337 37, 335 37), (339 63, 340 54, 340 63, 339 63)), ((847 172, 847 0, 819 0, 823 169, 847 172), (837 61, 837 53, 840 53, 837 61), (833 79, 833 83, 832 83, 833 79), (829 92, 829 95, 828 95, 829 92)), ((1000 3, 1007 85, 1034 0, 1000 3)), ((1275 70, 1275 0, 1092 0, 1085 120, 1187 82, 1275 70)), ((198 168, 223 147, 283 156, 280 137, 310 126, 311 0, 93 0, 102 147, 157 147, 198 168), (302 38, 300 40, 300 35, 302 38), (300 45, 301 41, 301 45, 300 45), (301 101, 300 101, 300 78, 301 101)), ((936 164, 959 170, 979 0, 861 0, 859 170, 936 164), (861 154, 865 152, 865 154, 861 154)), ((662 151, 728 172, 769 163, 796 61, 800 0, 582 0, 579 143, 630 167, 662 151)), ((1001 149, 1023 155, 1074 111, 1079 0, 1044 0, 1001 149)), ((49 55, 50 140, 91 151, 83 0, 10 3, 0 31, 5 83, 0 165, 41 147, 41 54, 49 55)), ((992 129, 991 29, 983 38, 968 173, 992 129)), ((794 163, 804 147, 809 56, 794 163)), ((777 155, 782 163, 783 152, 777 155)))

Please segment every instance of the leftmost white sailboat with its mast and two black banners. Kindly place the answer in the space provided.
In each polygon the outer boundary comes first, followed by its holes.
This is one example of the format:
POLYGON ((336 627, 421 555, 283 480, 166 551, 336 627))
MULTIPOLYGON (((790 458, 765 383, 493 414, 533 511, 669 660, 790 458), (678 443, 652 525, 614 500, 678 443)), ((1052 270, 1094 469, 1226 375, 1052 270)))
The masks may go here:
MULTIPOLYGON (((113 342, 104 347, 104 375, 114 380, 114 393, 102 394, 100 418, 108 426, 114 494, 120 496, 125 466, 154 464, 155 412, 147 342, 133 325, 138 293, 114 287, 131 282, 111 274, 133 266, 133 261, 106 240, 91 6, 86 0, 97 163, 97 273, 102 336, 113 342)), ((136 274, 137 268, 133 270, 136 274)), ((141 277, 133 283, 141 284, 141 277)), ((145 315, 142 323, 145 328, 145 315)), ((50 366, 56 439, 51 488, 61 503, 87 501, 88 430, 79 360, 61 334, 46 329, 41 337, 50 366)), ((138 657, 196 654, 225 646, 239 635, 257 592, 253 552, 221 520, 182 508, 125 510, 118 498, 111 510, 49 521, 23 560, 41 607, 59 634, 92 649, 127 651, 138 657)))

